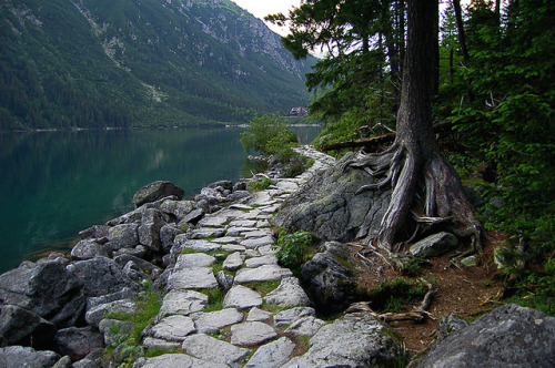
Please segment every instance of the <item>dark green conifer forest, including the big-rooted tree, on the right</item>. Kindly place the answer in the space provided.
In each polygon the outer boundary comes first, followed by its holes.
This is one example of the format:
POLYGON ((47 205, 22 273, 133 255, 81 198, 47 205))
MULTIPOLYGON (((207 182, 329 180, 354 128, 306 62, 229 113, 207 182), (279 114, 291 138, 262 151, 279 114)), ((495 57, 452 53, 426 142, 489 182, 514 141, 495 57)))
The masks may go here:
POLYGON ((412 211, 458 224, 472 252, 503 236, 504 297, 554 314, 555 3, 452 0, 441 9, 307 0, 266 19, 289 27, 282 42, 296 58, 327 51, 306 83, 311 114, 326 123, 317 146, 356 141, 361 129, 396 131, 389 147, 366 146, 350 163, 376 177, 360 191, 392 187, 367 234, 376 227, 374 241, 395 249, 412 211), (478 211, 461 181, 481 193, 478 211))

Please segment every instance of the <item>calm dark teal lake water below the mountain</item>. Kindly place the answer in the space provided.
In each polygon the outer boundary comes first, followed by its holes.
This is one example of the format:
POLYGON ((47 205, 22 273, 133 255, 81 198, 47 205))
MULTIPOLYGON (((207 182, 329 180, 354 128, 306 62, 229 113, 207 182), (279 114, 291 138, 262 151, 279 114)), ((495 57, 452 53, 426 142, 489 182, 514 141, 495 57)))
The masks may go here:
MULTIPOLYGON (((294 127, 302 143, 319 127, 294 127)), ((0 273, 79 232, 133 208, 133 194, 171 181, 192 197, 236 181, 246 160, 243 130, 179 129, 0 133, 0 273)), ((250 176, 250 175, 248 175, 250 176)))

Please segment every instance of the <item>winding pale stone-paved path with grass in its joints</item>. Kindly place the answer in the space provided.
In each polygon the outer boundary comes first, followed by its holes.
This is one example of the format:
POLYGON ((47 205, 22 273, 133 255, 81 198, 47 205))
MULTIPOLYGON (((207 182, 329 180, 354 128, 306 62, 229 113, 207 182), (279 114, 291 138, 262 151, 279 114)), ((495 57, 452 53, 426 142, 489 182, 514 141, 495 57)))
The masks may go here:
POLYGON ((281 367, 325 325, 272 248, 270 219, 280 204, 335 162, 309 146, 296 150, 314 160, 305 173, 276 178, 269 190, 206 215, 196 229, 175 237, 173 251, 180 255, 143 344, 183 352, 142 359, 138 366, 281 367))

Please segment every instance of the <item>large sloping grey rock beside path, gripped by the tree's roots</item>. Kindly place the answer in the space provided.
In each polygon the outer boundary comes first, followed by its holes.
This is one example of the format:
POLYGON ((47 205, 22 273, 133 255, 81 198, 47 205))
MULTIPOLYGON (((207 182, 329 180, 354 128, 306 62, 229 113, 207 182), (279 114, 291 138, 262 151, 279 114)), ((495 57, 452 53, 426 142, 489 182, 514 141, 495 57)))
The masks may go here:
POLYGON ((356 194, 361 186, 372 183, 372 178, 360 168, 343 170, 354 155, 346 154, 335 166, 313 175, 285 200, 274 223, 290 231, 312 232, 324 241, 347 242, 376 235, 380 228, 367 233, 361 231, 361 226, 381 223, 391 191, 356 194))

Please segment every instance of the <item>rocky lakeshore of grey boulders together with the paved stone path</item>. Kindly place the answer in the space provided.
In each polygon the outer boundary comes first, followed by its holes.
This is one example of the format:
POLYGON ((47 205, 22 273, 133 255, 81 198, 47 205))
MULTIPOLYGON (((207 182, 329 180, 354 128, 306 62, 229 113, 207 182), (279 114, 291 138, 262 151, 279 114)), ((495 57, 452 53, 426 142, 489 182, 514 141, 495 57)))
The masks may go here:
MULTIPOLYGON (((179 187, 152 183, 135 194, 137 209, 81 232, 71 259, 52 254, 0 275, 0 366, 406 365, 387 324, 361 311, 321 319, 314 288, 279 264, 271 224, 280 205, 334 165, 309 146, 297 150, 314 165, 295 178, 269 172, 274 184, 261 192, 220 181, 181 201, 179 187), (153 289, 162 305, 129 346, 137 326, 117 317, 135 313, 138 295, 153 289)), ((341 244, 323 251, 320 258, 336 255, 341 244)), ((311 277, 335 270, 327 265, 311 277)), ((442 326, 443 338, 411 366, 555 365, 555 318, 534 309, 508 305, 472 325, 451 316, 442 326)))

